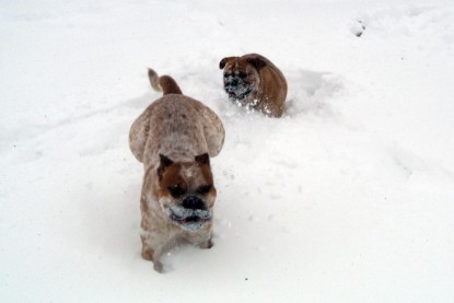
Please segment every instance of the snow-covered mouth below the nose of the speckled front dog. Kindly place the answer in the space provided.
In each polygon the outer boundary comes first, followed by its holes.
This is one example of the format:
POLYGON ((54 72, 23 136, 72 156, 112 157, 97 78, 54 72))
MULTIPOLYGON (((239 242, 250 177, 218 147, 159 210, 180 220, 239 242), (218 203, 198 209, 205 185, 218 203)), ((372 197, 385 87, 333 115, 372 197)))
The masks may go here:
POLYGON ((183 229, 194 232, 211 221, 210 212, 206 209, 188 209, 182 206, 170 208, 170 218, 183 229))

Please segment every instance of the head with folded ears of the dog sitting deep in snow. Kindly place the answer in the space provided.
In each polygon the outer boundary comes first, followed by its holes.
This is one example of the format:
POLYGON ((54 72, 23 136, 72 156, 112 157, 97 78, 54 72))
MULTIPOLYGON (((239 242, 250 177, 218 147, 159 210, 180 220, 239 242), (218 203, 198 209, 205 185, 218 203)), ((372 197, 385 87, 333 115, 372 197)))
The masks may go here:
POLYGON ((219 62, 223 69, 224 90, 229 98, 242 103, 251 93, 256 92, 260 84, 259 71, 265 62, 257 57, 226 57, 219 62))

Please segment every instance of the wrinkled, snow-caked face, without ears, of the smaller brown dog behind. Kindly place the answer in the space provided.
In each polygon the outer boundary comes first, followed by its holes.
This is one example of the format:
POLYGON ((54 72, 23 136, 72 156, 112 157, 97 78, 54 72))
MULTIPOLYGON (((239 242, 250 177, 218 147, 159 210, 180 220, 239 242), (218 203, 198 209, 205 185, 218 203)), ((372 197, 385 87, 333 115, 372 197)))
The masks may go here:
POLYGON ((240 103, 258 88, 259 77, 253 65, 231 59, 226 62, 223 70, 224 90, 232 101, 240 103))

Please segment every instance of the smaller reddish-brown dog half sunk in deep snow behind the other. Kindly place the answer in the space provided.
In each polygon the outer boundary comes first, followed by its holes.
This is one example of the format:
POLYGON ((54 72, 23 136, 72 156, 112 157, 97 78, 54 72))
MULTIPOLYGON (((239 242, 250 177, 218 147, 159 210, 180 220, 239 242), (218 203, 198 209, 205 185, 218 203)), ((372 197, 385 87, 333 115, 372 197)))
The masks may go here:
POLYGON ((248 54, 223 58, 219 68, 224 71, 224 90, 231 101, 271 117, 282 116, 287 81, 270 60, 248 54))

